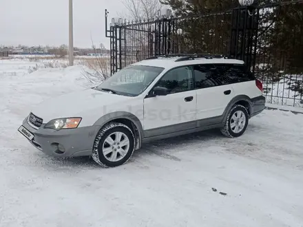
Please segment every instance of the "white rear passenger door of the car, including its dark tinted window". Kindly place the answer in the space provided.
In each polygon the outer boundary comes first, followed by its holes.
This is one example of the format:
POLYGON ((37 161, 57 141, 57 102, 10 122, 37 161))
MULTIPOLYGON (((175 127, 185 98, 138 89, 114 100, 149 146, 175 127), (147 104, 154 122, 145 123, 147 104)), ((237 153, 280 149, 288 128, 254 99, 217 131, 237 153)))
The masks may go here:
MULTIPOLYGON (((197 92, 197 120, 203 120, 205 125, 207 118, 222 116, 224 109, 235 96, 233 87, 223 81, 216 65, 203 64, 193 65, 195 75, 195 89, 197 92)), ((215 119, 216 120, 216 119, 215 119)), ((213 119, 209 125, 216 124, 213 119)))

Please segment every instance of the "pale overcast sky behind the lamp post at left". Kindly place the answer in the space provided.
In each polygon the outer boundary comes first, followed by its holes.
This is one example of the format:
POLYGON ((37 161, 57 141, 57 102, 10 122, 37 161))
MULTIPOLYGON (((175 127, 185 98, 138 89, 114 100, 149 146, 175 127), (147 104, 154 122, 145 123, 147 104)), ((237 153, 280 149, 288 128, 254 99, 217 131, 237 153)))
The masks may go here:
MULTIPOLYGON (((104 10, 109 19, 123 12, 121 0, 74 0, 74 45, 104 43, 104 10)), ((68 43, 68 0, 0 0, 0 45, 68 43)))

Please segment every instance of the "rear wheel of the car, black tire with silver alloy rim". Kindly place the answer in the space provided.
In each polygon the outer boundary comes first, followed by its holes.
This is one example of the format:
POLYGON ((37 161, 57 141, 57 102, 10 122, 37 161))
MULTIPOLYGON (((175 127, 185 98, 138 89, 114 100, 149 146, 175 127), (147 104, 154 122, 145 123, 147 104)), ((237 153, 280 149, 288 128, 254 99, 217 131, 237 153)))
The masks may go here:
POLYGON ((221 133, 229 138, 242 136, 249 124, 249 112, 242 105, 235 105, 227 114, 221 133))

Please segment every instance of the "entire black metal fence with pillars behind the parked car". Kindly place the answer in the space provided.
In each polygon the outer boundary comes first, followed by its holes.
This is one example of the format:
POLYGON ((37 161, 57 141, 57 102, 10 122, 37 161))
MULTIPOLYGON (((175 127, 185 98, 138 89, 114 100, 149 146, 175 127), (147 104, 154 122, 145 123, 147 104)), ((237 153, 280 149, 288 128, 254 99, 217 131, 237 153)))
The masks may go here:
POLYGON ((264 84, 267 101, 303 107, 303 0, 263 3, 207 15, 112 19, 111 74, 163 54, 222 54, 242 59, 264 84))

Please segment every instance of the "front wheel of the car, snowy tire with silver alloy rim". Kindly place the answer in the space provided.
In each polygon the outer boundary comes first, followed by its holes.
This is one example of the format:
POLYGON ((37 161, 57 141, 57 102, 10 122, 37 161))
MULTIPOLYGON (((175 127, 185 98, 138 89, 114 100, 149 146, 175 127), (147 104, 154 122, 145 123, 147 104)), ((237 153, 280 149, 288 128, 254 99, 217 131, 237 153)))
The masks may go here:
POLYGON ((98 131, 92 158, 105 168, 121 166, 132 157, 134 144, 134 133, 129 127, 119 122, 110 122, 98 131))

